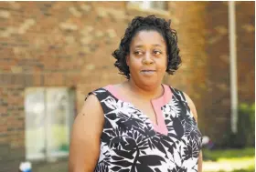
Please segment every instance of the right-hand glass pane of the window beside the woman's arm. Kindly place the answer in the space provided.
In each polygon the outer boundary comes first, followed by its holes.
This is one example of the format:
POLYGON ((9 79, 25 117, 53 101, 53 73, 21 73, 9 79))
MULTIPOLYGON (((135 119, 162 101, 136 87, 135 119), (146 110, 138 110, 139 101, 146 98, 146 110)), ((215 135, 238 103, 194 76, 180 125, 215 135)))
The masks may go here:
POLYGON ((73 92, 69 88, 47 89, 48 156, 59 157, 69 153, 69 122, 74 116, 73 92))

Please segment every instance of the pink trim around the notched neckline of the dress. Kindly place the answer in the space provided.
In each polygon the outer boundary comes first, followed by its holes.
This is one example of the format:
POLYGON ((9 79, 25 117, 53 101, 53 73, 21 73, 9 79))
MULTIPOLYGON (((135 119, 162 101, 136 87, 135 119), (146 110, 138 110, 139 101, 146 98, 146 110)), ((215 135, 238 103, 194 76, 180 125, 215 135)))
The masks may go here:
MULTIPOLYGON (((155 124, 152 121, 151 122, 154 126, 155 131, 157 131, 163 135, 167 135, 168 129, 165 125, 165 116, 161 110, 161 107, 165 106, 167 103, 169 103, 169 101, 172 98, 172 92, 171 92, 169 86, 166 86, 166 85, 162 85, 162 86, 164 87, 164 90, 165 90, 164 95, 151 100, 151 104, 155 109, 157 124, 155 124)), ((115 96, 116 98, 122 100, 123 102, 130 103, 129 101, 125 100, 125 98, 123 96, 120 96, 118 94, 118 92, 116 91, 116 89, 112 85, 105 86, 104 88, 107 89, 112 94, 112 96, 115 96)))

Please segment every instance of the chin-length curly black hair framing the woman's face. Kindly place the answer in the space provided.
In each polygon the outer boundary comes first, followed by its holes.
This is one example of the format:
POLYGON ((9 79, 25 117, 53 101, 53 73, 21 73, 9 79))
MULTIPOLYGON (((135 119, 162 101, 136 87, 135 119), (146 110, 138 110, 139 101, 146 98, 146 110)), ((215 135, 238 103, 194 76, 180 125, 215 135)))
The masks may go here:
POLYGON ((132 23, 125 30, 119 48, 112 53, 112 56, 116 59, 114 66, 118 67, 120 74, 130 79, 126 56, 130 53, 130 44, 133 36, 142 30, 154 30, 165 38, 168 58, 166 72, 169 75, 174 75, 174 72, 181 64, 181 57, 179 56, 180 50, 177 47, 176 30, 170 28, 170 25, 171 20, 167 22, 164 18, 157 18, 155 15, 134 17, 132 23))

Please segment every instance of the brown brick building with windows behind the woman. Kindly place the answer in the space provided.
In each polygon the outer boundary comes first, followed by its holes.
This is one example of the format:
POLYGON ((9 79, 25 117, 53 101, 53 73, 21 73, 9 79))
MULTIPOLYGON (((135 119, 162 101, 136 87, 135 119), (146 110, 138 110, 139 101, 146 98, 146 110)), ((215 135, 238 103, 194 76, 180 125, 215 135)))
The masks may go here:
MULTIPOLYGON (((33 171, 67 171, 73 117, 89 91, 124 80, 112 51, 133 16, 152 14, 172 19, 183 59, 165 84, 193 99, 202 133, 225 145, 228 2, 1 2, 0 172, 15 172, 25 159, 33 171)), ((254 18, 254 2, 236 2, 239 102, 246 103, 255 95, 254 18)))

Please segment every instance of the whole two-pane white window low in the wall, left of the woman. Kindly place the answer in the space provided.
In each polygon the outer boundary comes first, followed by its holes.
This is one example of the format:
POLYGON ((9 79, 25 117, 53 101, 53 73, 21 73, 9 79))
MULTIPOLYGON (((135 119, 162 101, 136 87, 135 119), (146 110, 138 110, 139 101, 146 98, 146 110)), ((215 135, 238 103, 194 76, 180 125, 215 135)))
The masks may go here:
POLYGON ((25 113, 27 159, 68 156, 75 91, 67 87, 29 87, 25 91, 25 113))

